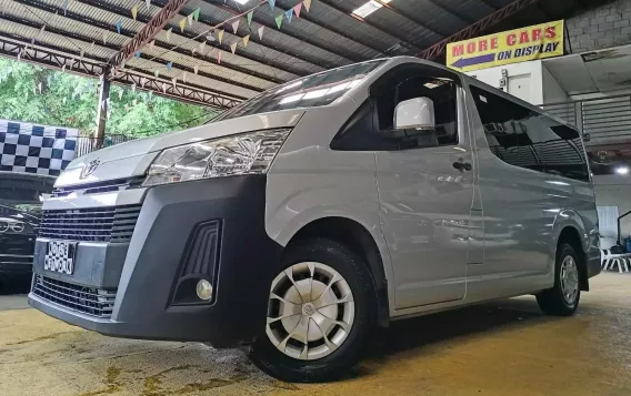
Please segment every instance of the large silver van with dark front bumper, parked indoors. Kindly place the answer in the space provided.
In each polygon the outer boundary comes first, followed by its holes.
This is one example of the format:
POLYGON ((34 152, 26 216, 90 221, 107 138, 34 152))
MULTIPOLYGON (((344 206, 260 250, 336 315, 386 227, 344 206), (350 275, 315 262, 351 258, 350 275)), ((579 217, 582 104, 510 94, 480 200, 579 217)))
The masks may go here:
POLYGON ((273 88, 214 122, 74 160, 43 204, 29 303, 118 337, 248 345, 328 380, 377 326, 600 272, 580 134, 415 58, 273 88))

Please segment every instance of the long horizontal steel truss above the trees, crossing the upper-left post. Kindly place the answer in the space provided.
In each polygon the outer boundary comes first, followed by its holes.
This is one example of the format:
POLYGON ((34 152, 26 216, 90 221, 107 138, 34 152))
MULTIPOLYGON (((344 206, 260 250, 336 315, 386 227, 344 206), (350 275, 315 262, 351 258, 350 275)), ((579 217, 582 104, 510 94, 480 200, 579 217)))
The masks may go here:
MULTIPOLYGON (((78 54, 69 53, 68 50, 41 48, 2 34, 0 34, 0 55, 96 79, 100 79, 108 68, 106 62, 80 58, 78 54)), ((178 82, 173 87, 169 80, 156 79, 148 73, 130 69, 119 70, 112 82, 122 85, 136 84, 139 90, 152 91, 162 97, 218 109, 232 108, 243 100, 190 83, 178 82)))

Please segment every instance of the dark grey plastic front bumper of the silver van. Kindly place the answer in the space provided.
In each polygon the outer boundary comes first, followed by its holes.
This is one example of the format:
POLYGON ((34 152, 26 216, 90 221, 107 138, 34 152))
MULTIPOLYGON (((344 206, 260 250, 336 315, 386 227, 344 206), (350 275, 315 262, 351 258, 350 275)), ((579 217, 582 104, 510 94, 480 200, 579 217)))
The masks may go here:
MULTIPOLYGON (((248 343, 264 329, 267 301, 281 246, 264 230, 266 177, 221 177, 149 189, 131 242, 80 243, 73 275, 43 270, 38 240, 33 272, 69 284, 114 290, 111 317, 97 317, 42 298, 29 304, 106 335, 168 341, 248 343), (194 230, 219 221, 213 299, 176 304, 194 230)), ((200 264, 201 265, 201 264, 200 264)))

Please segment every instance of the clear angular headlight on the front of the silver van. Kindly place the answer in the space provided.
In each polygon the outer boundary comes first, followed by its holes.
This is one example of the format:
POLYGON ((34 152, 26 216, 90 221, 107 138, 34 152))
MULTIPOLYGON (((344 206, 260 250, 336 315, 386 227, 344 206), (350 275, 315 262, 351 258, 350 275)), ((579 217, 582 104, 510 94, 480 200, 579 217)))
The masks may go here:
POLYGON ((167 149, 149 166, 142 185, 266 173, 289 132, 259 131, 167 149))

